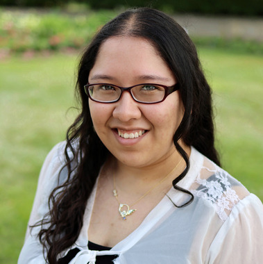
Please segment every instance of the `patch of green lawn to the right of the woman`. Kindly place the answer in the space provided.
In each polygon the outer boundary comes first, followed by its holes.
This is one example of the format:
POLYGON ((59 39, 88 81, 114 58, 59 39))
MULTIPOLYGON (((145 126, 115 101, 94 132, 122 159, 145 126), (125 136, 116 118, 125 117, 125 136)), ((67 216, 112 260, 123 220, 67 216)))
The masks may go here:
POLYGON ((263 201, 263 56, 201 49, 223 167, 263 201))

